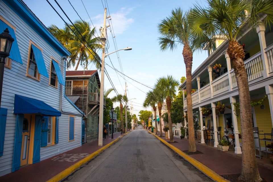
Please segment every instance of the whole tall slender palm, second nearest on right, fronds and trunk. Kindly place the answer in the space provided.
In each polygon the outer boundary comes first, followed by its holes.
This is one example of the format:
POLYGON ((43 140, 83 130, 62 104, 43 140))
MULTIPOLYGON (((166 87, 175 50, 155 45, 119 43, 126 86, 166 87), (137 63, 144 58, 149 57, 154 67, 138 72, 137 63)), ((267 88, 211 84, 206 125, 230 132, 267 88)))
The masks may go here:
MULTIPOLYGON (((158 24, 158 31, 162 35, 159 38, 160 49, 174 51, 178 45, 183 45, 183 58, 186 66, 186 90, 191 93, 191 69, 193 64, 193 51, 190 47, 192 37, 190 34, 188 17, 181 8, 171 11, 171 16, 166 17, 158 24)), ((168 108, 170 111, 170 108, 168 108)), ((189 130, 189 152, 196 152, 194 128, 193 128, 193 106, 191 94, 187 94, 187 113, 189 130)))

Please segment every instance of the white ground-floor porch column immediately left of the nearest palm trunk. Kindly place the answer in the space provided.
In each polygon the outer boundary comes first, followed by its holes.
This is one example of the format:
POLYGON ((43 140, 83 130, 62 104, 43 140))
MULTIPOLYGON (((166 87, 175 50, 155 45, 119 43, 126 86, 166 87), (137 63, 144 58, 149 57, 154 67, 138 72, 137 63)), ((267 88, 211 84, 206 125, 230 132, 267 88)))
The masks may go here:
POLYGON ((230 104, 231 104, 231 116, 232 116, 232 124, 233 124, 233 130, 234 130, 234 137, 235 137, 235 154, 241 154, 242 150, 240 147, 240 142, 239 142, 239 131, 238 131, 238 123, 237 123, 237 117, 234 112, 234 105, 233 103, 236 102, 235 97, 230 97, 230 104))

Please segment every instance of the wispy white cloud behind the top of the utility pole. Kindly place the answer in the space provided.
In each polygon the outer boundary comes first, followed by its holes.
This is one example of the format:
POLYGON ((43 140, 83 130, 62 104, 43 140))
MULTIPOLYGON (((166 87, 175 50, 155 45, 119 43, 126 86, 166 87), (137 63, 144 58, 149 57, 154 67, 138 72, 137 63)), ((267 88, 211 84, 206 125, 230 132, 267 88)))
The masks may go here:
MULTIPOLYGON (((131 11, 133 11, 133 9, 134 7, 123 7, 116 13, 111 13, 111 26, 113 25, 112 30, 114 30, 115 35, 120 35, 125 32, 125 30, 127 30, 129 26, 134 22, 133 18, 127 17, 127 15, 129 15, 131 11)), ((91 18, 92 21, 94 20, 94 26, 97 30, 99 30, 99 28, 103 26, 103 17, 103 14, 99 14, 91 18)), ((106 21, 106 26, 107 25, 108 21, 106 21)), ((108 31, 108 34, 111 33, 108 31)))

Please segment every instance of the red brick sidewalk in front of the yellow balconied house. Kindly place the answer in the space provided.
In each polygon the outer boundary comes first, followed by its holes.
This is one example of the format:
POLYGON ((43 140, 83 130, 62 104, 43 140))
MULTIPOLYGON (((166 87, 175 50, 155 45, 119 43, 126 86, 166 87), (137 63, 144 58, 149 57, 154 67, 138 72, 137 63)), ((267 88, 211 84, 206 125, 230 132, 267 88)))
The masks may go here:
MULTIPOLYGON (((159 134, 157 135, 160 136, 159 134)), ((164 133, 163 133, 164 136, 164 133)), ((162 138, 165 141, 164 137, 162 138)), ((185 139, 174 137, 175 143, 171 143, 179 150, 189 150, 189 142, 185 139), (177 142, 177 143, 176 143, 177 142)), ((192 158, 198 160, 205 166, 209 167, 219 175, 239 174, 241 173, 242 160, 224 151, 216 150, 215 148, 208 147, 203 144, 196 144, 196 149, 203 154, 192 154, 192 158)), ((273 170, 258 164, 260 176, 267 182, 273 182, 273 170)))

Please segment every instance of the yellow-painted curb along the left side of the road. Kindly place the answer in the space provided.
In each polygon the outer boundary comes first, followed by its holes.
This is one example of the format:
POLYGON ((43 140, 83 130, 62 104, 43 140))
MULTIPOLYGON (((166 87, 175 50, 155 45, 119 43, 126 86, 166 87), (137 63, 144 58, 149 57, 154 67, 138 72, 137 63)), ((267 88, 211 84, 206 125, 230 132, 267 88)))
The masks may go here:
POLYGON ((75 171, 76 169, 78 169, 80 166, 84 165, 86 162, 88 162, 91 159, 93 159, 94 157, 96 157, 98 154, 100 154, 101 152, 103 152, 105 149, 107 149, 109 146, 111 146, 112 144, 114 144, 115 142, 117 142, 118 140, 120 140, 124 135, 127 135, 128 133, 130 133, 130 132, 126 132, 125 134, 121 135, 119 138, 113 140, 109 144, 107 144, 104 147, 100 148, 99 150, 93 152, 92 154, 90 154, 89 156, 83 158, 79 162, 73 164, 72 166, 70 166, 67 169, 63 170, 59 174, 53 176, 51 179, 47 180, 46 182, 60 181, 61 179, 65 178, 70 173, 72 173, 73 171, 75 171))

